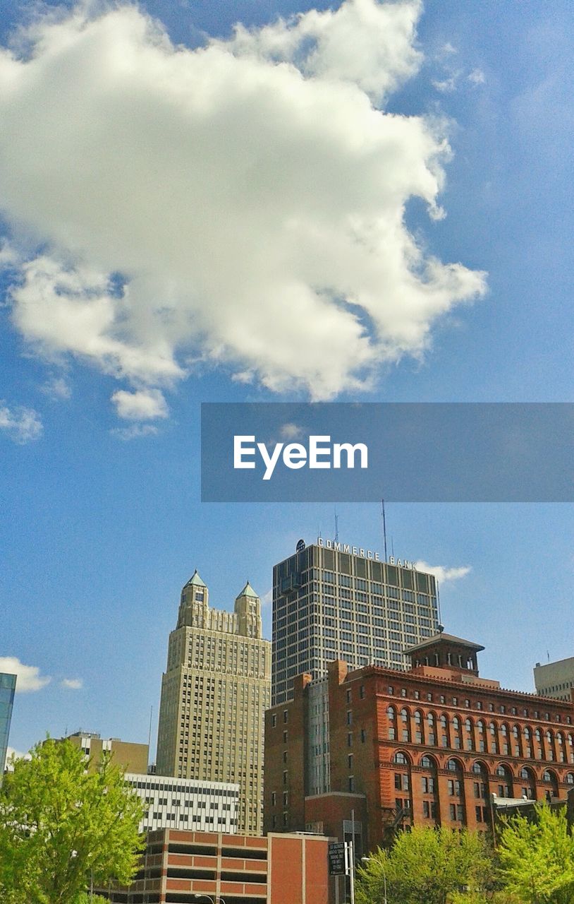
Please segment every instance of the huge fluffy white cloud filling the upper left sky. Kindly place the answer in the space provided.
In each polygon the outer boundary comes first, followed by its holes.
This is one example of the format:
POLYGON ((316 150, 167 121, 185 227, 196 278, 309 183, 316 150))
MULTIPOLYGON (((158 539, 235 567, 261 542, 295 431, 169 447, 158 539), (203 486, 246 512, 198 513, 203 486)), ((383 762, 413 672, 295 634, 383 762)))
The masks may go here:
POLYGON ((383 108, 420 9, 346 0, 196 50, 134 6, 41 18, 0 53, 1 212, 42 245, 12 290, 23 336, 136 391, 199 359, 328 399, 420 354, 485 290, 404 222, 412 197, 440 216, 449 156, 383 108))

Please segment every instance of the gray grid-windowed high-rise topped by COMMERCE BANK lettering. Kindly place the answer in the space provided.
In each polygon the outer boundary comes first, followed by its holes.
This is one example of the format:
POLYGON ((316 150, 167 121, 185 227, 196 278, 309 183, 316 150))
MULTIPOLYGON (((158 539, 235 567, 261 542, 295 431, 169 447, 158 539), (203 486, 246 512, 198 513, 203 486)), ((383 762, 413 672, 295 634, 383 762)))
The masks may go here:
POLYGON ((343 659, 406 668, 403 650, 436 634, 439 626, 433 575, 411 561, 380 560, 377 552, 322 540, 273 568, 272 705, 292 698, 302 672, 327 674, 343 659))

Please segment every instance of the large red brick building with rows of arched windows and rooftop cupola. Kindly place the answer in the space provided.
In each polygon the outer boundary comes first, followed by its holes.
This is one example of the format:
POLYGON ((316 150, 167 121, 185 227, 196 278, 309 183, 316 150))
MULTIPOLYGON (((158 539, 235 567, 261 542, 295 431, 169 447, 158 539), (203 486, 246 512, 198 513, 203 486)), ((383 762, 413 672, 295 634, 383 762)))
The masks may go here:
POLYGON ((329 665, 265 714, 264 829, 342 838, 359 852, 393 824, 486 831, 491 795, 566 799, 574 786, 574 702, 481 678, 483 647, 440 634, 409 671, 329 665))

